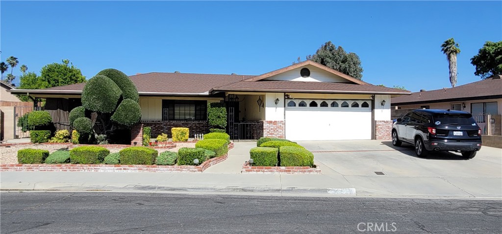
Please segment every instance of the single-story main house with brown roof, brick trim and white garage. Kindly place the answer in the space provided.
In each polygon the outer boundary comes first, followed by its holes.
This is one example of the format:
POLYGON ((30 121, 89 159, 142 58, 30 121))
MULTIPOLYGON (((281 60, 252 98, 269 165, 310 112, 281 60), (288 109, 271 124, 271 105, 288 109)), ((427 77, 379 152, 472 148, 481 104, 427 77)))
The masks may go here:
MULTIPOLYGON (((234 139, 389 139, 390 98, 409 91, 374 86, 305 61, 259 76, 147 73, 130 76, 140 94, 143 126, 152 136, 172 127, 207 133, 207 103, 225 102, 234 139)), ((84 83, 42 90, 11 90, 46 98, 46 110, 80 104, 84 83), (52 101, 51 101, 52 100, 52 101), (52 103, 52 104, 51 104, 52 103)), ((53 120, 55 119, 53 115, 53 120)))

